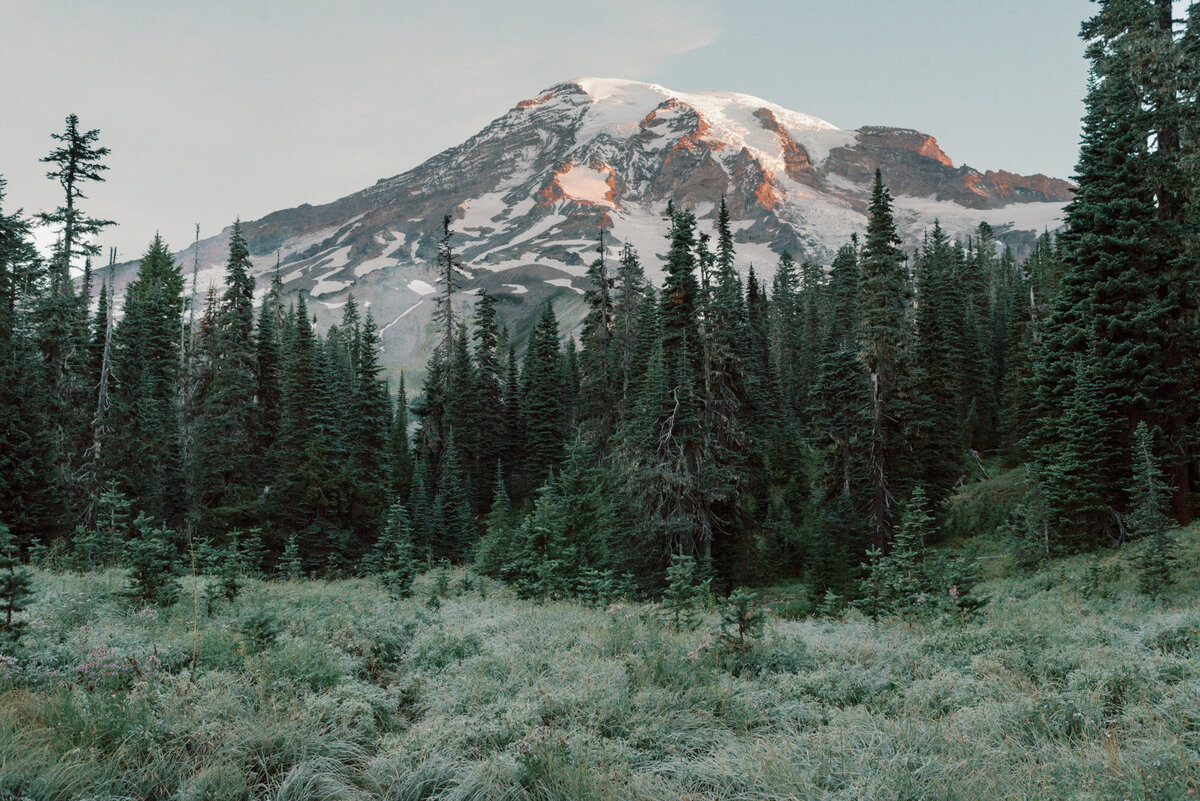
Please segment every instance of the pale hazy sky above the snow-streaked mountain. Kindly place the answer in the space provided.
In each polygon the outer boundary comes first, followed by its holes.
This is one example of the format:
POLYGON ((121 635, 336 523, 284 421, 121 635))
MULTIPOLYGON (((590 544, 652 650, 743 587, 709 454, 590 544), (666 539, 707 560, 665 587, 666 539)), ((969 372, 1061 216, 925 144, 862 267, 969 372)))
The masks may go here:
POLYGON ((326 203, 586 76, 913 127, 956 164, 1070 175, 1087 0, 0 0, 5 211, 61 201, 67 114, 112 149, 84 207, 122 259, 326 203))

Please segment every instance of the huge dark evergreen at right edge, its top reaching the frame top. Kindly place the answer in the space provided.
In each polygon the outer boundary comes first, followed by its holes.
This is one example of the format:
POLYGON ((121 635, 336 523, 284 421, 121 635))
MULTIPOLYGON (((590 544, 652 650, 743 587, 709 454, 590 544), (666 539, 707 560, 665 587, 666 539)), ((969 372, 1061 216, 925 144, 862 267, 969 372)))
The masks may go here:
MULTIPOLYGON (((1105 390, 1102 430, 1090 446, 1102 478, 1096 498, 1054 498, 1128 510, 1129 454, 1138 421, 1175 444, 1170 454, 1172 514, 1192 517, 1200 345, 1194 313, 1196 267, 1186 253, 1188 181, 1182 120, 1194 98, 1180 89, 1177 68, 1187 37, 1172 32, 1166 0, 1106 0, 1082 29, 1092 80, 1085 104, 1078 192, 1068 204, 1061 239, 1063 275, 1038 357, 1038 412, 1044 421, 1032 445, 1040 464, 1052 462, 1073 436, 1068 411, 1058 411, 1087 359, 1105 390)), ((1042 472, 1051 474, 1045 466, 1042 472)), ((1052 489, 1048 496, 1061 495, 1052 489)), ((1068 510, 1070 512, 1072 510, 1068 510)), ((1086 530, 1072 546, 1112 532, 1112 514, 1084 516, 1086 530)))

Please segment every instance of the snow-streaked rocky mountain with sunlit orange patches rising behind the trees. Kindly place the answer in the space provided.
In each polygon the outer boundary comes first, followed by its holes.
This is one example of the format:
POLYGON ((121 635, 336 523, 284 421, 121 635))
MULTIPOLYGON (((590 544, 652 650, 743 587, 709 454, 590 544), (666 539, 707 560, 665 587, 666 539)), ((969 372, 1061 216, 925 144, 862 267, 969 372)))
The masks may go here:
MULTIPOLYGON (((710 229, 724 195, 743 267, 769 276, 785 249, 827 264, 865 228, 876 168, 895 195, 906 247, 936 217, 952 235, 986 221, 1021 252, 1057 227, 1072 197, 1069 183, 1044 175, 955 167, 917 131, 840 131, 748 95, 587 78, 521 101, 407 173, 242 229, 259 291, 278 259, 284 289, 307 293, 322 323, 353 293, 383 330, 386 363, 418 367, 432 338, 432 265, 445 213, 463 261, 463 307, 481 289, 498 295, 520 345, 547 297, 565 324, 580 319, 581 276, 600 228, 612 254, 630 242, 654 277, 667 201, 710 229)), ((227 229, 179 254, 185 273, 198 264, 202 297, 221 282, 228 237, 227 229)))

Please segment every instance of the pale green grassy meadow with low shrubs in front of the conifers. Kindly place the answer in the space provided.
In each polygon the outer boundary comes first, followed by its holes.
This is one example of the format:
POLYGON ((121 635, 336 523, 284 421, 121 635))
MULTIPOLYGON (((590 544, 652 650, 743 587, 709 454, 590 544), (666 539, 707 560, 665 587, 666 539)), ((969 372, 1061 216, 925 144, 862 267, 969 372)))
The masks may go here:
POLYGON ((970 621, 770 615, 732 661, 710 610, 680 632, 463 572, 432 603, 430 574, 248 582, 206 614, 192 579, 155 610, 118 571, 36 571, 0 799, 1189 797, 1200 526, 1177 538, 1159 601, 1121 550, 996 559, 970 621))

